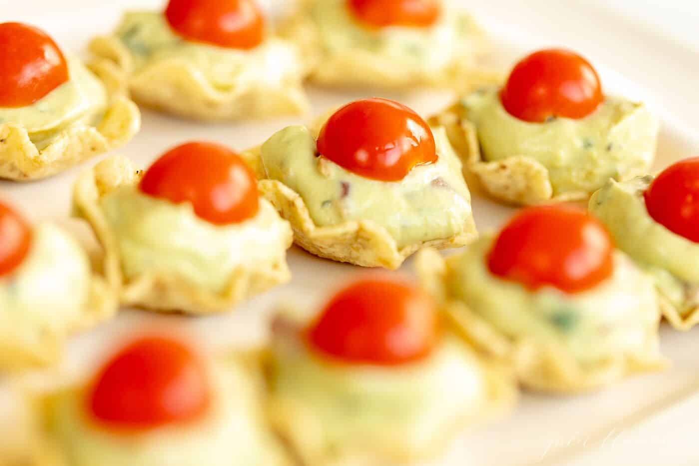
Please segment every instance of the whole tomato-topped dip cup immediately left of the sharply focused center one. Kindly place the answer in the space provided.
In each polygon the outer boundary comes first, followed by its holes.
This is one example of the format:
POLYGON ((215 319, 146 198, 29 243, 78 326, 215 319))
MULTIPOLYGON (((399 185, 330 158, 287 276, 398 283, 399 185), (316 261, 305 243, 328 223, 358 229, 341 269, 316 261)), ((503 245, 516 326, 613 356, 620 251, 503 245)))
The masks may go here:
POLYGON ((145 173, 125 157, 105 160, 80 176, 73 203, 96 233, 124 305, 228 311, 289 281, 291 227, 223 146, 182 144, 145 173))

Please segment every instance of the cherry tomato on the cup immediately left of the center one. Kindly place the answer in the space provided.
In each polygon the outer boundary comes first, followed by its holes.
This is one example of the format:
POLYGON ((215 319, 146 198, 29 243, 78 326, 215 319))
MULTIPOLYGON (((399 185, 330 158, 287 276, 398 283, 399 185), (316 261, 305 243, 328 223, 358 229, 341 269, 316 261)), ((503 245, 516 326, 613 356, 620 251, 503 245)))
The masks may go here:
POLYGON ((259 208, 250 167, 233 151, 212 143, 169 150, 145 172, 140 190, 175 204, 191 202, 197 216, 215 225, 243 222, 259 208))

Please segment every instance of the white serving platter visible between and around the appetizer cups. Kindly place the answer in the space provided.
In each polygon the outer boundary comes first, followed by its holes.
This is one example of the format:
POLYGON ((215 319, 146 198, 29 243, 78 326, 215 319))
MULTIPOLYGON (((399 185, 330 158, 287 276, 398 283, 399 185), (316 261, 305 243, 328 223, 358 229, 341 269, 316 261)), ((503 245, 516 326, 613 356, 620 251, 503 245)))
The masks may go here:
MULTIPOLYGON (((0 22, 22 20, 49 31, 64 50, 81 53, 87 40, 110 31, 124 8, 158 8, 159 0, 0 0, 0 22), (119 5, 115 3, 120 3, 119 5)), ((267 3, 285 3, 284 0, 267 3)), ((626 22, 583 0, 463 0, 493 35, 497 62, 510 64, 524 52, 556 45, 574 48, 596 65, 607 92, 643 99, 663 118, 656 168, 699 155, 696 112, 699 54, 626 22)), ((333 92, 310 90, 314 114, 359 97, 399 99, 430 114, 453 98, 449 93, 397 95, 376 90, 333 92)), ((144 111, 143 129, 119 150, 147 166, 177 143, 203 139, 244 149, 264 141, 299 118, 237 125, 204 125, 144 111)), ((88 162, 91 164, 94 162, 88 162)), ((85 165, 87 166, 87 164, 85 165)), ((84 168, 83 166, 82 168, 84 168)), ((31 220, 55 220, 94 241, 85 225, 69 219, 71 185, 79 169, 48 181, 18 185, 0 183, 0 197, 13 202, 31 220)), ((501 225, 513 212, 475 196, 479 230, 501 225)), ((266 318, 280 302, 306 306, 309 312, 333 288, 363 269, 337 264, 294 248, 289 252, 294 278, 288 285, 252 299, 234 313, 210 318, 155 316, 124 310, 111 323, 76 337, 62 367, 31 376, 33 381, 62 383, 84 374, 115 339, 150 327, 172 325, 191 332, 210 348, 245 346, 264 341, 266 318)), ((409 260, 398 273, 411 274, 409 260)), ((69 290, 66 290, 69 292, 69 290)), ((699 418, 699 329, 679 333, 664 326, 662 348, 673 362, 660 374, 630 379, 601 393, 577 397, 525 394, 514 413, 454 443, 433 465, 696 465, 692 427, 699 418)), ((0 416, 1 416, 0 409, 0 416)), ((138 465, 134 465, 138 466, 138 465)), ((206 466, 206 465, 202 465, 206 466)), ((388 466, 388 465, 387 465, 388 466)))

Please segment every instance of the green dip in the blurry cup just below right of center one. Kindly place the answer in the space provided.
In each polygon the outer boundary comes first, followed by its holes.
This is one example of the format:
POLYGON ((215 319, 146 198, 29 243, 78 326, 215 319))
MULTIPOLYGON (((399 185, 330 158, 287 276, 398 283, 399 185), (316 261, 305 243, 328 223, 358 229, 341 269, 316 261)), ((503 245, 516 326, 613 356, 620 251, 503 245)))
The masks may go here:
POLYGON ((653 282, 617 251, 614 272, 596 288, 530 291, 493 276, 485 257, 493 236, 447 259, 447 292, 512 339, 560 344, 582 364, 647 351, 659 320, 653 282))

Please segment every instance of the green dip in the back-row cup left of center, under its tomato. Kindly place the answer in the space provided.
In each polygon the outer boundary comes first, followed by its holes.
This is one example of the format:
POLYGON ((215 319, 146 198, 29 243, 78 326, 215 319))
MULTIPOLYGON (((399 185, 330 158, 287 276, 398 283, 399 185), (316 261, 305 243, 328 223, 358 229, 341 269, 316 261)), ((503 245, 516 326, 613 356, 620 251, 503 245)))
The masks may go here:
POLYGON ((301 73, 296 51, 276 38, 267 38, 252 50, 186 41, 159 12, 126 13, 116 36, 131 52, 134 71, 174 59, 195 66, 220 91, 233 90, 248 80, 284 83, 288 76, 301 73))

